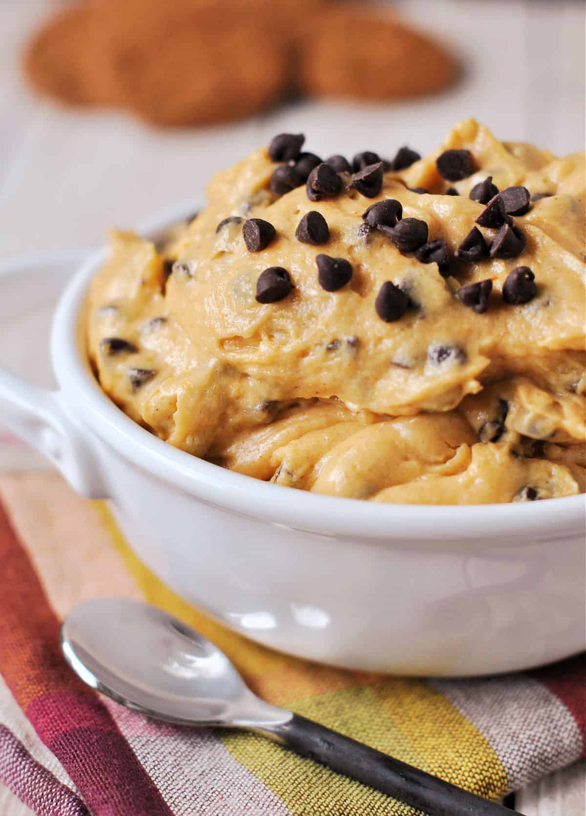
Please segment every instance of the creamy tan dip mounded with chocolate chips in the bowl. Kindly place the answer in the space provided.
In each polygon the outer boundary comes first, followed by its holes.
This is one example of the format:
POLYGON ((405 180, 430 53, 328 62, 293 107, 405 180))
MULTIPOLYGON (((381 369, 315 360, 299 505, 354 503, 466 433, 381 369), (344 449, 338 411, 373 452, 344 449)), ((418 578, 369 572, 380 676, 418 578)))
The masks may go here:
POLYGON ((171 445, 302 490, 583 491, 584 155, 473 120, 424 158, 302 146, 280 134, 216 175, 160 251, 114 233, 88 298, 104 391, 171 445))

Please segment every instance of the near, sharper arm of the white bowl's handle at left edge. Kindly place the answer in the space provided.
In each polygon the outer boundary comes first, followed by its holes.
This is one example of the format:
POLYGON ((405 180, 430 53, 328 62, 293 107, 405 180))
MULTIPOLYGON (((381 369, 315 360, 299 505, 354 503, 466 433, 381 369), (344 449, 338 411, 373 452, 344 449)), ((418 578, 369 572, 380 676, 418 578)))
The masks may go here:
POLYGON ((49 391, 0 367, 0 423, 50 459, 83 496, 107 499, 93 444, 69 417, 61 392, 49 391))

